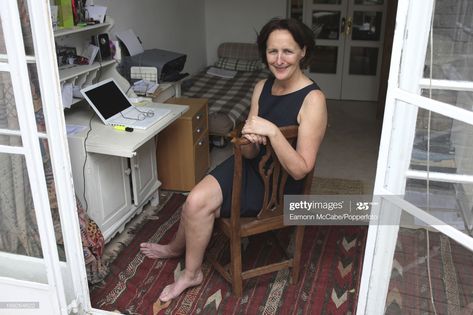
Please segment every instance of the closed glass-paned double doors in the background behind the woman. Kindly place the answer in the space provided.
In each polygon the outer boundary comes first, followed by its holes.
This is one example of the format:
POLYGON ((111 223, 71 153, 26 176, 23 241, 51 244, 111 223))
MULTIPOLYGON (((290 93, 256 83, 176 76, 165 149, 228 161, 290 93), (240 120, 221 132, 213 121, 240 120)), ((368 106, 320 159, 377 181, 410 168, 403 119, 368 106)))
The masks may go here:
POLYGON ((378 98, 387 0, 305 0, 303 21, 316 36, 309 76, 327 98, 378 98))

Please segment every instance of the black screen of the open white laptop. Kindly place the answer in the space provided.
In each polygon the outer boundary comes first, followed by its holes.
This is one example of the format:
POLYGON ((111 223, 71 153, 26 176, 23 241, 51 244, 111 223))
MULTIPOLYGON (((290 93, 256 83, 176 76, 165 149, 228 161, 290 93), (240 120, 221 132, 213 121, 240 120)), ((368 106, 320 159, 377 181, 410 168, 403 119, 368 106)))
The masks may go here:
POLYGON ((113 80, 99 84, 83 93, 87 95, 104 119, 108 119, 131 106, 113 80))

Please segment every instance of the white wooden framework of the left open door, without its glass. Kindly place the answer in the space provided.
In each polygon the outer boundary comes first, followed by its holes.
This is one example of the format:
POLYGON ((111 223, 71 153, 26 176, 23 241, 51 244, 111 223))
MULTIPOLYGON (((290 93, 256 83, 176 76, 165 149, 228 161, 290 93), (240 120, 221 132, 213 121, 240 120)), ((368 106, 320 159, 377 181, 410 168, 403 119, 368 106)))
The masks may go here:
POLYGON ((2 0, 0 14, 7 55, 0 56, 0 70, 11 77, 20 130, 0 129, 0 134, 22 138, 21 147, 0 146, 2 153, 24 155, 32 191, 43 258, 0 253, 2 264, 18 274, 0 277, 0 288, 11 301, 38 301, 40 311, 51 314, 91 310, 87 274, 67 145, 54 34, 48 1, 27 0, 34 56, 23 46, 16 0, 2 0), (47 133, 38 132, 27 64, 36 64, 47 133), (39 139, 47 139, 54 174, 66 262, 58 257, 51 207, 46 187, 39 139), (21 272, 28 270, 28 273, 21 272), (40 303, 41 302, 41 303, 40 303))

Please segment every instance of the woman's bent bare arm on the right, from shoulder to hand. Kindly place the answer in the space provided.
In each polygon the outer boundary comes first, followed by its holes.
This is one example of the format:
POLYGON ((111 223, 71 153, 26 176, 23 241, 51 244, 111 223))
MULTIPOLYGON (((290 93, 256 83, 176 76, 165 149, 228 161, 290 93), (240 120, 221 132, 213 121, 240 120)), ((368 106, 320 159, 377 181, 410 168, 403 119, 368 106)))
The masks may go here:
POLYGON ((315 159, 327 126, 325 96, 321 91, 310 92, 297 117, 299 131, 294 149, 279 128, 258 116, 250 116, 243 127, 243 134, 266 136, 281 165, 294 179, 302 179, 315 166, 315 159))

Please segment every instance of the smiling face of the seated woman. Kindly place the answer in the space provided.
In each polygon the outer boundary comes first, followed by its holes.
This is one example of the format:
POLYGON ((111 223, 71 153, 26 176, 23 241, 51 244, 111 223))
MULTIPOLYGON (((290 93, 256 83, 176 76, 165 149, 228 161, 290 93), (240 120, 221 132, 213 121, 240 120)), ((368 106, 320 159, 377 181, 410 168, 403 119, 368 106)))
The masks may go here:
POLYGON ((305 49, 299 47, 289 31, 275 30, 269 35, 266 60, 276 79, 288 80, 300 72, 299 63, 304 56, 305 49))

